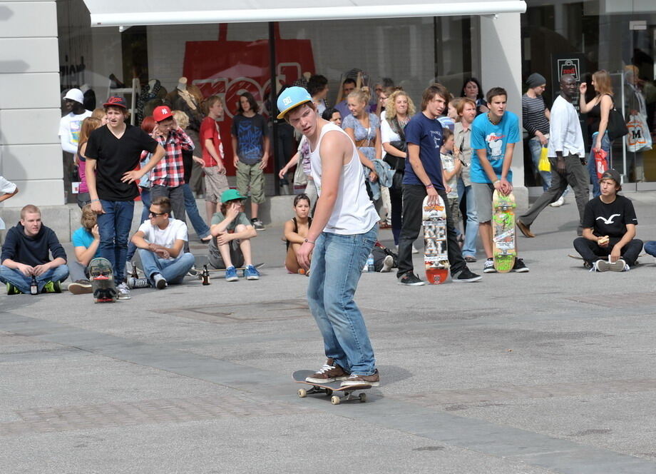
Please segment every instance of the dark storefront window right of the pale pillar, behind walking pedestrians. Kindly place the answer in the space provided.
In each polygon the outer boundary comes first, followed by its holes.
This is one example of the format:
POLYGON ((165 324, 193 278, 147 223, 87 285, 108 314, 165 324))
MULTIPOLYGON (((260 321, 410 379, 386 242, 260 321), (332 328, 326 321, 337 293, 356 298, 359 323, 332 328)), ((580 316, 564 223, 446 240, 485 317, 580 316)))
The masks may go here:
MULTIPOLYGON (((613 141, 612 166, 625 182, 636 183, 625 189, 638 190, 656 188, 656 150, 648 146, 656 133, 656 6, 639 5, 610 0, 529 1, 522 15, 522 76, 526 79, 538 72, 547 78, 546 104, 558 94, 555 71, 559 58, 577 60, 584 81, 590 81, 591 74, 600 69, 610 72, 615 107, 631 125, 630 140, 613 141)), ((594 95, 592 92, 588 99, 594 95)), ((593 130, 588 117, 581 119, 589 150, 593 130)), ((525 171, 527 185, 538 186, 540 178, 528 156, 525 171)))

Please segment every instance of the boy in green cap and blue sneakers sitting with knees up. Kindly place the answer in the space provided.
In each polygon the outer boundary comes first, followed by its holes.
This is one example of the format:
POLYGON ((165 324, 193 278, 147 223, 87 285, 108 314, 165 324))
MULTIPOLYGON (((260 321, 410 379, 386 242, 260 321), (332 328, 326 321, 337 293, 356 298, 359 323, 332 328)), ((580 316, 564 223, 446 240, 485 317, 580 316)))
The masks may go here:
POLYGON ((215 268, 225 268, 225 280, 237 281, 236 266, 246 263, 244 277, 259 280, 260 272, 253 266, 250 239, 257 237, 257 231, 244 213, 245 197, 236 189, 228 189, 221 194, 220 211, 214 213, 210 224, 210 264, 215 268))

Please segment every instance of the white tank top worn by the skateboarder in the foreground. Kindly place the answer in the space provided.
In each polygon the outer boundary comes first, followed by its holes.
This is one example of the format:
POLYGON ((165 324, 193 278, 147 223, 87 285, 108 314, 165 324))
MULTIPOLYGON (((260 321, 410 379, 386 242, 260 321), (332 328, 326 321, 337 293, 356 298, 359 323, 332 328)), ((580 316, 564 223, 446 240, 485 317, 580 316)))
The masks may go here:
MULTIPOLYGON (((314 151, 310 151, 312 178, 314 178, 314 184, 317 186, 319 196, 321 196, 321 156, 319 156, 319 152, 321 151, 321 141, 329 131, 339 131, 339 133, 348 136, 342 128, 334 123, 326 123, 321 130, 321 135, 319 135, 317 146, 314 147, 314 151)), ((351 141, 350 137, 349 141, 351 141)), ((337 200, 324 232, 343 235, 365 233, 379 220, 374 203, 369 199, 367 188, 364 186, 364 169, 362 163, 360 163, 357 148, 355 148, 353 141, 351 143, 353 146, 351 161, 342 166, 342 176, 339 178, 337 188, 337 200)))

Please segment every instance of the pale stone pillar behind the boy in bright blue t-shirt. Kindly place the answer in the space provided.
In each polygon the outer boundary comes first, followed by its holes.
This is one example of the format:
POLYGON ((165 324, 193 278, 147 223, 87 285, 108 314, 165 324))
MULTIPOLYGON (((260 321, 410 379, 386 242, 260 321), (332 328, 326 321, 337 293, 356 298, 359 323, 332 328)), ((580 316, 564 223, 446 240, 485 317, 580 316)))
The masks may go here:
MULTIPOLYGON (((522 115, 521 28, 520 14, 481 16, 481 82, 483 94, 500 86, 508 91, 508 111, 522 115)), ((524 186, 524 152, 520 141, 513 154, 513 188, 518 206, 528 206, 528 189, 524 186)))

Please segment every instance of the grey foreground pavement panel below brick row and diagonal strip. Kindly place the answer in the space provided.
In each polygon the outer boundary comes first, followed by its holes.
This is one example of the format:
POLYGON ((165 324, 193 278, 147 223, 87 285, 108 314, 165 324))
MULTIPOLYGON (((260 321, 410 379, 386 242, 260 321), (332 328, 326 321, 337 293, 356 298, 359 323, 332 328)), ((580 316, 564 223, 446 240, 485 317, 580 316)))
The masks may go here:
POLYGON ((108 427, 4 441, 0 470, 12 473, 327 473, 349 459, 361 463, 362 473, 550 472, 327 413, 108 427), (16 450, 21 455, 6 455, 16 450))

